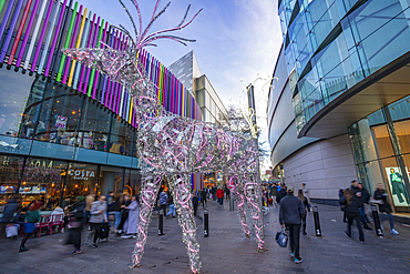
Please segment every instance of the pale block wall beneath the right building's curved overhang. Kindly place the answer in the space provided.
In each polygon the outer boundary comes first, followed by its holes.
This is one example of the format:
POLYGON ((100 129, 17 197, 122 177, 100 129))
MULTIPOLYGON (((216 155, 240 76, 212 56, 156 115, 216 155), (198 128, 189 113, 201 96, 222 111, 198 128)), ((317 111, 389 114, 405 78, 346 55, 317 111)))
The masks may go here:
POLYGON ((357 179, 348 135, 311 143, 284 162, 285 183, 300 189, 306 183, 314 200, 338 200, 341 186, 357 179))

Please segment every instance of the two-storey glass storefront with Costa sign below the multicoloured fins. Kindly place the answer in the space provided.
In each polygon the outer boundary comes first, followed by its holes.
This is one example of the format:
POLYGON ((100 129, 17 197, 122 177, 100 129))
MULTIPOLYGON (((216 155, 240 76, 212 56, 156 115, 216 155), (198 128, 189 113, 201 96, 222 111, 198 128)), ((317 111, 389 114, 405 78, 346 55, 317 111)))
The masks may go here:
POLYGON ((0 80, 0 206, 17 193, 50 207, 90 192, 139 193, 135 128, 47 78, 3 67, 0 80))

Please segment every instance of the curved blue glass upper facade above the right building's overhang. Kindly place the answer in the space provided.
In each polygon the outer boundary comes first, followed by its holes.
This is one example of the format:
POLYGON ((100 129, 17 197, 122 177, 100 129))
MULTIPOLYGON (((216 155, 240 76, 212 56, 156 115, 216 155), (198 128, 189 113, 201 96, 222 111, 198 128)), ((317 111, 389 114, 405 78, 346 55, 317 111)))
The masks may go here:
POLYGON ((297 130, 341 93, 409 52, 407 0, 283 0, 297 130))

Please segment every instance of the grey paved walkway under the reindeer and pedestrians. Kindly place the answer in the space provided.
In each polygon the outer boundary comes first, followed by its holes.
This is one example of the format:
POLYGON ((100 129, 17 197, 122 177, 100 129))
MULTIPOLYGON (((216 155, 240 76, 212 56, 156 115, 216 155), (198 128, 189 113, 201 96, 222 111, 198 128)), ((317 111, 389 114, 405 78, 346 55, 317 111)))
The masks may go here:
MULTIPOLYGON (((322 236, 314 234, 312 213, 308 215, 308 235, 301 236, 303 263, 296 265, 287 248, 279 247, 274 237, 279 231, 277 209, 265 216, 265 253, 256 252, 254 239, 242 233, 237 212, 209 204, 209 237, 203 236, 203 221, 197 219, 202 273, 409 273, 410 227, 397 224, 401 233, 386 239, 366 232, 366 244, 344 235, 345 223, 338 207, 318 205, 322 236)), ((203 214, 199 206, 198 215, 203 214)), ((383 226, 389 227, 387 221, 383 226)), ((176 219, 164 220, 166 235, 157 235, 157 216, 153 216, 145 254, 140 268, 129 270, 134 240, 114 234, 91 248, 83 241, 81 254, 71 255, 72 245, 64 245, 64 234, 29 239, 29 252, 18 253, 19 241, 0 242, 0 273, 191 273, 182 232, 176 219)))

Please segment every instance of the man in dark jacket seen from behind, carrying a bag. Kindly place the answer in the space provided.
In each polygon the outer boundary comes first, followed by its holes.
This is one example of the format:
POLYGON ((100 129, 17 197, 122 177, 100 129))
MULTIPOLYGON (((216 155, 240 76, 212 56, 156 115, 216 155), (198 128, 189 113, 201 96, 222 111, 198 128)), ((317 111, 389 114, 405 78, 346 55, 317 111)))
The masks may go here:
POLYGON ((305 217, 305 206, 300 199, 294 196, 294 187, 287 187, 287 194, 280 200, 279 223, 289 230, 290 256, 295 264, 301 263, 299 253, 300 224, 305 217))

